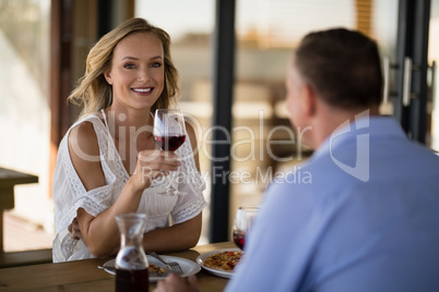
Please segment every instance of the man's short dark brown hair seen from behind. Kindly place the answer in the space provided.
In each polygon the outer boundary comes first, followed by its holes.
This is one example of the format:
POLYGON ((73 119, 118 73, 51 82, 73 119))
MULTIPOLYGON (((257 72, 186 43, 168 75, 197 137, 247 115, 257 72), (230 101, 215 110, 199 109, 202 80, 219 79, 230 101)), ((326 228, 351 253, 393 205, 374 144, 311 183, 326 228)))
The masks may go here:
POLYGON ((295 56, 301 76, 329 105, 357 108, 381 102, 378 46, 361 33, 345 28, 310 33, 295 56))

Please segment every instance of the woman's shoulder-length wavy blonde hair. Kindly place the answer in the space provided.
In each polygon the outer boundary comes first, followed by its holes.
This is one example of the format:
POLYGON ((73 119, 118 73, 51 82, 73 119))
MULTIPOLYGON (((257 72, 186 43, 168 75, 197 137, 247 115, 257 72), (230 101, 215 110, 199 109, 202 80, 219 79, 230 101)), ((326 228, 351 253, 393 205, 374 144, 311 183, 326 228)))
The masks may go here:
POLYGON ((158 108, 169 108, 177 101, 180 89, 178 87, 178 71, 170 57, 169 35, 143 19, 131 19, 103 36, 90 50, 85 74, 80 78, 76 88, 68 98, 73 104, 83 105, 81 117, 97 112, 111 105, 112 87, 105 80, 104 73, 111 69, 111 59, 116 46, 133 33, 154 34, 161 40, 164 50, 165 85, 151 111, 154 112, 158 108))

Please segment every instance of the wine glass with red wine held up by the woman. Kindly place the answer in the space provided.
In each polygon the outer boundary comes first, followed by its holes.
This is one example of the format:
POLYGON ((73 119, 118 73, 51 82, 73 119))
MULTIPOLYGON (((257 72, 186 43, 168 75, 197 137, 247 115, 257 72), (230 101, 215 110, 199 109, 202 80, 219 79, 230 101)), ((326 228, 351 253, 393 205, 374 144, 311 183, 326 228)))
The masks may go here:
MULTIPOLYGON (((157 109, 154 118, 154 139, 163 150, 175 151, 186 141, 185 118, 179 109, 157 109)), ((168 195, 185 194, 174 187, 173 173, 169 174, 168 195)))

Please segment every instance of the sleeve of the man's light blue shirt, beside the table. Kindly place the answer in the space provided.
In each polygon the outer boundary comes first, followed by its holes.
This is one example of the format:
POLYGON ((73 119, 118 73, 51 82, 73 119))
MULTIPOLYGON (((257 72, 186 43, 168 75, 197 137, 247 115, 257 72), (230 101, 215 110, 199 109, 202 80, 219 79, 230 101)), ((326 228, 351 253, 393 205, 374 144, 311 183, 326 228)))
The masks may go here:
POLYGON ((269 187, 226 291, 300 291, 321 222, 312 199, 293 187, 269 187))

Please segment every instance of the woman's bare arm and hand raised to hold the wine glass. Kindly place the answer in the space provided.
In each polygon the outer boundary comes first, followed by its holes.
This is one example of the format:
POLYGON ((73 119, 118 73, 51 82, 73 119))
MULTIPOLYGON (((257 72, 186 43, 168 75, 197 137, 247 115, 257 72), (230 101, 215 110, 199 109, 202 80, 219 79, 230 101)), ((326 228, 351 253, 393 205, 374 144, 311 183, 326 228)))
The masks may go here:
MULTIPOLYGON (((87 191, 105 185, 105 177, 99 160, 99 147, 92 123, 82 123, 71 131, 69 151, 73 167, 87 191)), ((135 212, 143 190, 151 185, 151 180, 165 175, 166 171, 174 171, 180 166, 177 156, 173 159, 166 158, 169 154, 162 150, 144 150, 140 155, 146 155, 150 159, 144 159, 147 162, 138 159, 137 172, 130 177, 112 206, 96 217, 83 208, 78 209, 76 219, 81 238, 96 257, 114 254, 119 246, 119 230, 115 216, 123 212, 135 212), (150 170, 149 177, 143 177, 142 168, 144 167, 150 170)))

